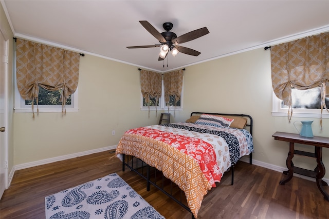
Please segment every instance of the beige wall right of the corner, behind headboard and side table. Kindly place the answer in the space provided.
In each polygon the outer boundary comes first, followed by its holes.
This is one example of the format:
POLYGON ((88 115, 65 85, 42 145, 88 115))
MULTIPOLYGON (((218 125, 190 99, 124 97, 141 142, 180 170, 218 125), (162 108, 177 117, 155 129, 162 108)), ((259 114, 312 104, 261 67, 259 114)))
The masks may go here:
MULTIPOLYGON (((285 167, 289 143, 275 141, 276 131, 297 133, 294 121, 307 118, 272 116, 270 51, 263 48, 239 53, 210 62, 190 66, 184 72, 184 112, 176 112, 175 121, 184 121, 192 111, 244 113, 253 117, 253 159, 285 167)), ((323 119, 320 132, 319 120, 312 128, 314 135, 329 137, 329 119, 323 119)), ((311 146, 296 145, 314 152, 311 146)), ((316 167, 312 158, 294 157, 296 166, 316 167)), ((329 167, 329 149, 323 149, 323 163, 329 167)), ((275 167, 276 168, 276 167, 275 167)), ((327 172, 325 178, 329 178, 327 172)))

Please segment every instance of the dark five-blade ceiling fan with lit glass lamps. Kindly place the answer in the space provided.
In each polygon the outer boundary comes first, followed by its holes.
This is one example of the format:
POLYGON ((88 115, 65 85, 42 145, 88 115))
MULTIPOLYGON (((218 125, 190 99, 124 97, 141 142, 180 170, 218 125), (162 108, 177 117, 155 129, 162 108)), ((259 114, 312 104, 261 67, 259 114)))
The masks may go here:
POLYGON ((165 29, 165 32, 160 33, 157 31, 149 22, 139 21, 139 23, 147 29, 161 44, 149 45, 149 46, 127 46, 128 49, 139 49, 139 48, 152 48, 152 47, 161 47, 159 53, 159 61, 162 61, 167 57, 169 51, 176 56, 179 52, 185 53, 188 55, 198 56, 200 52, 190 49, 187 47, 178 46, 178 44, 186 43, 196 39, 198 37, 204 36, 209 33, 207 27, 203 27, 197 30, 193 30, 181 36, 178 36, 171 32, 173 24, 170 22, 163 23, 162 27, 165 29))

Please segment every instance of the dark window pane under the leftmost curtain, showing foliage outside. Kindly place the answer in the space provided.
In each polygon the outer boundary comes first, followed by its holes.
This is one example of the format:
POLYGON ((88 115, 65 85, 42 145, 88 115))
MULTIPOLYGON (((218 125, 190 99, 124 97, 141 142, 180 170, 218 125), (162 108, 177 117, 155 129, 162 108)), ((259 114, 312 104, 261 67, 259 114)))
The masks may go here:
MULTIPOLYGON (((48 91, 39 86, 38 105, 62 105, 59 102, 62 90, 48 91)), ((34 103, 36 105, 36 101, 34 103)), ((25 101, 25 105, 32 105, 32 101, 25 101)), ((66 100, 66 105, 71 105, 71 95, 66 100)))

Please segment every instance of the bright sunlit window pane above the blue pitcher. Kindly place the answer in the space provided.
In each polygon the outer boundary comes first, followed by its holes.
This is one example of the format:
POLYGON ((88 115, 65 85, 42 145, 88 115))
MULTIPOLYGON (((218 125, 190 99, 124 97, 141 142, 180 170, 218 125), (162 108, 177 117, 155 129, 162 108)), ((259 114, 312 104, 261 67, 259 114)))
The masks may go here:
MULTIPOLYGON (((321 109, 320 87, 308 90, 293 88, 291 89, 291 98, 294 109, 321 109)), ((329 108, 329 97, 325 98, 325 104, 329 108)), ((281 101, 281 108, 288 108, 288 106, 283 105, 283 101, 281 101)))

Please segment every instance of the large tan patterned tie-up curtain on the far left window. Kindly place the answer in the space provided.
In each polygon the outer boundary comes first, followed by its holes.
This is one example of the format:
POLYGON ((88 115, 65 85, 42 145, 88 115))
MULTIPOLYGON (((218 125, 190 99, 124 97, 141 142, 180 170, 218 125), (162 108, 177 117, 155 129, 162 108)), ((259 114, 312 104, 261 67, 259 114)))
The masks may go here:
POLYGON ((79 53, 17 38, 16 76, 21 96, 26 100, 36 99, 38 106, 39 86, 49 91, 62 90, 63 114, 66 99, 78 87, 79 62, 79 53))

